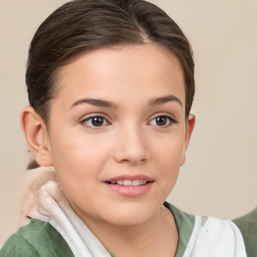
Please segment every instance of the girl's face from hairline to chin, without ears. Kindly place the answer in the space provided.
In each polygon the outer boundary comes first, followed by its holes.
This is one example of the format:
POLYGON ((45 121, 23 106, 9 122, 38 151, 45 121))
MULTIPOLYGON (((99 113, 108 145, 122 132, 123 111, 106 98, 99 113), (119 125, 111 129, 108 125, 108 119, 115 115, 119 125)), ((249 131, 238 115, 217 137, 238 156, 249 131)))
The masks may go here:
POLYGON ((173 189, 190 133, 177 58, 151 45, 99 49, 61 72, 49 149, 85 222, 150 219, 173 189))

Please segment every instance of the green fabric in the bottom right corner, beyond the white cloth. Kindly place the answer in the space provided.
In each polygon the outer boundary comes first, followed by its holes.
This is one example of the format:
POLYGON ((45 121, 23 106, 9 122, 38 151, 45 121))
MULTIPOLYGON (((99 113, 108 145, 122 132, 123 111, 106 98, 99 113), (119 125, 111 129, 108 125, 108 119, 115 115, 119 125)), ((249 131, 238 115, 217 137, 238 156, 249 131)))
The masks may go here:
POLYGON ((257 208, 232 220, 240 229, 248 257, 257 256, 257 208))

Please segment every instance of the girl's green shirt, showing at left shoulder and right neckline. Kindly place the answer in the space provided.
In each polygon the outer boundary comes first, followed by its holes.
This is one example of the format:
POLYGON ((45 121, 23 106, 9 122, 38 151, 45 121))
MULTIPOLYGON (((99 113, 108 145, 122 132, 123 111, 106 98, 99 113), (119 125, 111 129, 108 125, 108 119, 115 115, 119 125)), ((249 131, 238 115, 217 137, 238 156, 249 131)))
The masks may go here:
MULTIPOLYGON (((173 213, 177 223, 179 244, 175 257, 181 257, 193 230, 194 216, 167 202, 164 205, 173 213)), ((6 241, 0 251, 0 257, 74 257, 62 235, 49 222, 33 218, 30 220, 30 224, 20 227, 6 241)), ((109 253, 115 257, 113 253, 109 253)))

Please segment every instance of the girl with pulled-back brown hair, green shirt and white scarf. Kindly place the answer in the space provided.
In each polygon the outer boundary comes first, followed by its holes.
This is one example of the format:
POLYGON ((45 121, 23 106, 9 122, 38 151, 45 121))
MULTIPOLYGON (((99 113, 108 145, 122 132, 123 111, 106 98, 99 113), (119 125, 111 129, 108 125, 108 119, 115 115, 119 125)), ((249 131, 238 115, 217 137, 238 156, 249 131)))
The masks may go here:
POLYGON ((246 256, 232 222, 165 202, 195 117, 192 50, 162 10, 65 4, 32 40, 26 83, 22 129, 56 179, 1 256, 246 256))

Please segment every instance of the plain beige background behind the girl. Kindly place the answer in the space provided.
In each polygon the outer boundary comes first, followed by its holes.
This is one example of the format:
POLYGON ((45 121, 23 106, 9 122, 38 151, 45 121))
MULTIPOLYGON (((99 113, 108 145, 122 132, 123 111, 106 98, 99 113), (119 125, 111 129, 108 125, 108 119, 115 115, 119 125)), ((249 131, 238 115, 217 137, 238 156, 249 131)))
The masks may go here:
MULTIPOLYGON (((28 153, 19 116, 27 104, 26 55, 62 0, 0 0, 0 244, 16 231, 28 153)), ((257 1, 156 0, 192 43, 196 127, 169 201, 223 218, 257 205, 257 1)))

